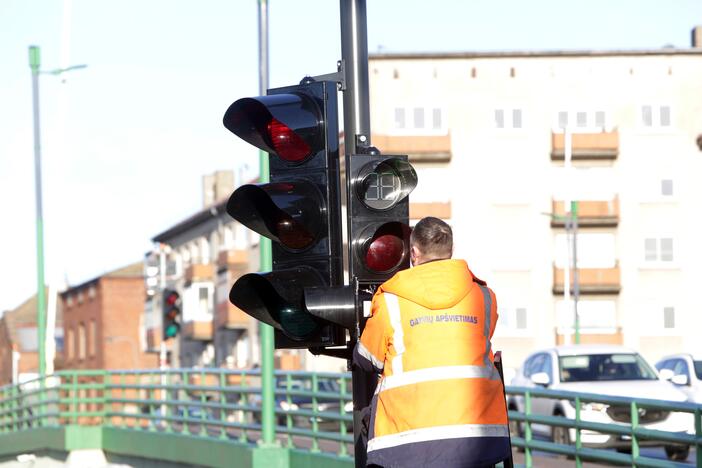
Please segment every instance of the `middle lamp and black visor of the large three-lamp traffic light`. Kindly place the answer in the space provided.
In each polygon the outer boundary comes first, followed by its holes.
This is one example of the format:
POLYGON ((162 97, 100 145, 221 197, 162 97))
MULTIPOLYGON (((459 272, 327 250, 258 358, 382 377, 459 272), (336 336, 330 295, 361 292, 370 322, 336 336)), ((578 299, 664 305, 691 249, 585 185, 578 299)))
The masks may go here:
POLYGON ((322 195, 305 181, 242 185, 229 197, 227 213, 293 251, 314 245, 326 225, 322 195))

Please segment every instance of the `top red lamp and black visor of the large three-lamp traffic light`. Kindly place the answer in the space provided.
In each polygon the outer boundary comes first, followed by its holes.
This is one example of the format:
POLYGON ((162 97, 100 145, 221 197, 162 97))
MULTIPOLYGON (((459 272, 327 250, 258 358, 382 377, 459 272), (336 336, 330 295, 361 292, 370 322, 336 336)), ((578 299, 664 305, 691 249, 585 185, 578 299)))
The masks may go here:
POLYGON ((311 96, 274 94, 235 101, 224 126, 244 141, 290 163, 324 147, 324 115, 311 96))

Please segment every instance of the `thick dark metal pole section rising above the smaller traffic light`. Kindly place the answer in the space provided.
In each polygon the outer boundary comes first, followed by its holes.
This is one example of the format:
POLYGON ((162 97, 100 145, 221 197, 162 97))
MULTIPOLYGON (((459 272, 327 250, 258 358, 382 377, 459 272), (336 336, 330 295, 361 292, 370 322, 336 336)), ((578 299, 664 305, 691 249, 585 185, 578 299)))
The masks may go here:
POLYGON ((369 146, 368 33, 365 0, 341 0, 341 58, 344 61, 344 146, 346 154, 369 146))

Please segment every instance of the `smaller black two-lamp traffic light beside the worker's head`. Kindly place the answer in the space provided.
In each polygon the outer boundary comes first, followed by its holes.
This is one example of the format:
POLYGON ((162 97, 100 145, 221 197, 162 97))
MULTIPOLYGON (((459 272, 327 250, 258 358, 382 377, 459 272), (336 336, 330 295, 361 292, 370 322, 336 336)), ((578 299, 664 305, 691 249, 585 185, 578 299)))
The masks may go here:
POLYGON ((409 194, 417 173, 407 156, 352 155, 346 167, 349 276, 362 289, 409 267, 409 194))

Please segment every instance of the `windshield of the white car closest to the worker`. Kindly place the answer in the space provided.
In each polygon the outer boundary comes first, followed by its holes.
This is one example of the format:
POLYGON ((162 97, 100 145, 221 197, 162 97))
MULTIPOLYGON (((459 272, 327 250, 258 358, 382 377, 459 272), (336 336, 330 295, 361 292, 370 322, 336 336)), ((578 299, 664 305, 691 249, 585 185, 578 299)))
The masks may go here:
POLYGON ((561 382, 600 380, 657 380, 638 354, 587 354, 559 358, 561 382))

